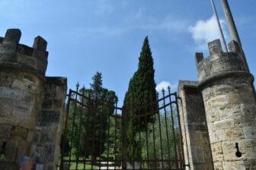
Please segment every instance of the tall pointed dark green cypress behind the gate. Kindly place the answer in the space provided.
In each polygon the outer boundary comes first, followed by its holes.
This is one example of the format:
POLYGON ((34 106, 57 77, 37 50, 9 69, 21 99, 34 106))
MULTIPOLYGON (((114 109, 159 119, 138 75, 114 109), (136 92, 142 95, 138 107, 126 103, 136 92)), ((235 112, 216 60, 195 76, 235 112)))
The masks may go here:
POLYGON ((150 113, 157 108, 156 104, 149 105, 149 103, 156 103, 155 70, 153 65, 154 62, 149 46, 149 39, 148 36, 146 36, 139 56, 138 69, 130 80, 128 91, 123 101, 124 112, 128 118, 127 146, 128 157, 130 159, 141 159, 142 143, 136 140, 134 136, 139 132, 146 131, 147 124, 154 121, 152 114, 142 116, 141 118, 131 118, 132 116, 150 113), (143 105, 144 107, 141 107, 143 105), (139 109, 134 109, 138 107, 139 109))

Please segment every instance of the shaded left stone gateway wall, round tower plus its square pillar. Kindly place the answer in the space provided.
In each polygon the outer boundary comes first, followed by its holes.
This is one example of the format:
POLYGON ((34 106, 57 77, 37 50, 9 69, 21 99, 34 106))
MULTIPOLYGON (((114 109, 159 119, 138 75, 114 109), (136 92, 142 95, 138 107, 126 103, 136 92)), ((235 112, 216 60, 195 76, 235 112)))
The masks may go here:
MULTIPOLYGON (((43 150, 39 157, 42 158, 43 154, 55 154, 56 157, 59 150, 56 143, 60 137, 59 120, 63 112, 66 78, 45 77, 48 52, 43 38, 37 36, 33 48, 19 44, 20 38, 18 29, 7 30, 5 37, 0 37, 0 150, 5 153, 0 158, 2 170, 18 169, 21 156, 35 156, 31 146, 38 148, 38 134, 43 136, 46 133, 39 131, 39 119, 45 118, 43 115, 47 115, 50 121, 54 119, 51 125, 57 128, 48 131, 49 135, 55 131, 55 136, 47 140, 54 149, 43 150), (55 96, 47 96, 49 93, 55 96), (51 111, 58 112, 59 119, 50 115, 50 109, 47 110, 43 102, 46 99, 53 99, 51 111)), ((39 160, 46 163, 44 159, 39 160)))

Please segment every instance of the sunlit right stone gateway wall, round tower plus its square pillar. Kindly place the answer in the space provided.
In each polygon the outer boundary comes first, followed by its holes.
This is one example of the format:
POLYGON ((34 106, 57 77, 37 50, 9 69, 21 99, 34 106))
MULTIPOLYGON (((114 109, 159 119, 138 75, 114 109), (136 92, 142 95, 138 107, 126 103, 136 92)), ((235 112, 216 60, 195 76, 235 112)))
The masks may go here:
POLYGON ((208 58, 196 53, 199 81, 181 81, 178 87, 186 164, 256 169, 254 77, 237 42, 229 43, 229 52, 222 52, 219 39, 208 46, 208 58))

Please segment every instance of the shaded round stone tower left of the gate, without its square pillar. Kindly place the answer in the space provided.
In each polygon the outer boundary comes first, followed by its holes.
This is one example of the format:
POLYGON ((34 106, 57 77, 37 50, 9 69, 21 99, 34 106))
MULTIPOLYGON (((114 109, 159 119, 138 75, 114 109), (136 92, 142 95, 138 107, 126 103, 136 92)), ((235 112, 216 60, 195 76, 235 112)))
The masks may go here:
POLYGON ((0 168, 8 169, 18 169, 18 159, 30 155, 48 56, 40 36, 33 48, 19 44, 20 38, 18 29, 0 37, 0 168))

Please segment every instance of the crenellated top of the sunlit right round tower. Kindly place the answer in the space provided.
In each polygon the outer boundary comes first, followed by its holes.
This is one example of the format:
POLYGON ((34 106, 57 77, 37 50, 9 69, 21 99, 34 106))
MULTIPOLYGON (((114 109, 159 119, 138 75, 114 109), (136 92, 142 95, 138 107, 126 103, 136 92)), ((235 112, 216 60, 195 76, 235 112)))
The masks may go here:
POLYGON ((208 43, 210 56, 203 58, 202 52, 195 55, 199 82, 234 72, 249 73, 238 42, 229 42, 229 52, 223 52, 219 39, 208 43))

